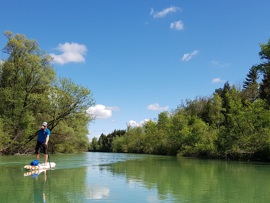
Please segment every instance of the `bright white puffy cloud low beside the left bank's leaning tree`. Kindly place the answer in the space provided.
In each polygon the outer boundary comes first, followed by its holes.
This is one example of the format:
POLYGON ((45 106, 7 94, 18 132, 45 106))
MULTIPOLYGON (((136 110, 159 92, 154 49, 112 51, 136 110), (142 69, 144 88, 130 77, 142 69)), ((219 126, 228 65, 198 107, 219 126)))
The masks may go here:
POLYGON ((112 111, 119 111, 117 106, 104 106, 102 104, 97 104, 96 106, 91 106, 88 108, 88 112, 96 116, 98 119, 110 118, 113 116, 112 111))

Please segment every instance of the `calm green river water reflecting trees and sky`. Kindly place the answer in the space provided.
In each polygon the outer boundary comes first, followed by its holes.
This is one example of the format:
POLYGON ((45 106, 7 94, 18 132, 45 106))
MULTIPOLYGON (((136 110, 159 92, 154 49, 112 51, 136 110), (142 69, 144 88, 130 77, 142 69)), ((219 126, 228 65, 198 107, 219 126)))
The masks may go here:
POLYGON ((26 176, 33 160, 0 156, 0 202, 270 202, 268 163, 88 152, 26 176))

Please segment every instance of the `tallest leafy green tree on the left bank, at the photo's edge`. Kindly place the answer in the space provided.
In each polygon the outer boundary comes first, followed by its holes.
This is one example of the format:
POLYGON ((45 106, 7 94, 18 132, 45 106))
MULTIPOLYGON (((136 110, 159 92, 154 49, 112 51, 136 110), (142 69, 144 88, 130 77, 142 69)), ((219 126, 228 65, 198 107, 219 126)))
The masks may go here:
POLYGON ((55 78, 52 57, 39 48, 38 42, 24 35, 5 31, 8 42, 2 51, 0 71, 0 115, 10 134, 6 153, 26 149, 26 137, 36 131, 35 113, 44 103, 46 90, 55 78))

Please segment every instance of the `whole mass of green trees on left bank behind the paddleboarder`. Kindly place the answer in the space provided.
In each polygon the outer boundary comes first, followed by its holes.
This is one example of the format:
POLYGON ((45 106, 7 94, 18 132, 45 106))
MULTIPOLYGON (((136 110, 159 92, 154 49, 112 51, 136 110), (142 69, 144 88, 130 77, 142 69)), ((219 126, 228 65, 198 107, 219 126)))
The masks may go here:
POLYGON ((35 152, 37 128, 51 131, 50 152, 80 152, 89 147, 93 117, 91 90, 71 78, 57 78, 53 58, 34 39, 5 31, 6 58, 0 60, 0 155, 35 152))

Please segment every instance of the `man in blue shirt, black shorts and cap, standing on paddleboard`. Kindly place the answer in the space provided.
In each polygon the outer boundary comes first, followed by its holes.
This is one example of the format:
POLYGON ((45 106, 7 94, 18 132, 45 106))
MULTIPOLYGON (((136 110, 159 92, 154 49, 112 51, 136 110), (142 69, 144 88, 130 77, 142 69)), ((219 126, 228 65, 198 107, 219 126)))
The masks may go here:
POLYGON ((48 123, 44 122, 41 126, 38 127, 38 141, 36 145, 36 155, 37 160, 40 159, 40 149, 42 147, 44 153, 44 165, 47 165, 48 159, 48 141, 50 136, 50 130, 47 128, 48 123))

